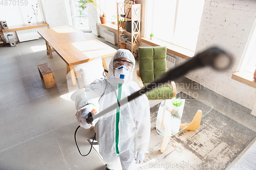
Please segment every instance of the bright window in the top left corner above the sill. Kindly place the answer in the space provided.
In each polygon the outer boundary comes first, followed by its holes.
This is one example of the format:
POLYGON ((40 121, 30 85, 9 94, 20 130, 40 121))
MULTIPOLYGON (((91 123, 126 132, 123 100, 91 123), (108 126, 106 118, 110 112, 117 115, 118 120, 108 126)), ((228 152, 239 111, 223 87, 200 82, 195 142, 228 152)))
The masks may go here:
POLYGON ((0 20, 6 21, 8 27, 28 25, 28 20, 31 18, 31 23, 44 22, 41 9, 37 0, 29 1, 0 1, 0 20), (37 8, 36 8, 37 4, 37 8), (37 9, 37 17, 34 15, 32 8, 37 9))

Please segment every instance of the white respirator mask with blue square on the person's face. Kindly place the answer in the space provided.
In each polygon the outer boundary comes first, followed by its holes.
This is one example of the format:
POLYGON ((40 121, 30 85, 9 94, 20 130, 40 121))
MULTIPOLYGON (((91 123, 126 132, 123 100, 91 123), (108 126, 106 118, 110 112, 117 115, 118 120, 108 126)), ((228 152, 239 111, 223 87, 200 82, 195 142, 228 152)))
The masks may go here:
POLYGON ((114 69, 114 78, 117 83, 123 84, 125 81, 129 79, 131 71, 125 65, 120 65, 119 67, 114 69))

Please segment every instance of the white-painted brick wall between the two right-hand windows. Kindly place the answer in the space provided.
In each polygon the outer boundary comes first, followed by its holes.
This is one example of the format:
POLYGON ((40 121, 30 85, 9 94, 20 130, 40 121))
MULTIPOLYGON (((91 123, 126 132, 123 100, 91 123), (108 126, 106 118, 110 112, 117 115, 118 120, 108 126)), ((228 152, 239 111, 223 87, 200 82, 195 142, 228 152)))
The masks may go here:
POLYGON ((196 53, 211 45, 224 47, 234 58, 233 66, 226 72, 211 68, 193 71, 186 77, 255 112, 256 89, 231 76, 237 71, 245 45, 256 16, 255 1, 206 0, 201 20, 196 53), (254 107, 254 108, 253 108, 254 107))

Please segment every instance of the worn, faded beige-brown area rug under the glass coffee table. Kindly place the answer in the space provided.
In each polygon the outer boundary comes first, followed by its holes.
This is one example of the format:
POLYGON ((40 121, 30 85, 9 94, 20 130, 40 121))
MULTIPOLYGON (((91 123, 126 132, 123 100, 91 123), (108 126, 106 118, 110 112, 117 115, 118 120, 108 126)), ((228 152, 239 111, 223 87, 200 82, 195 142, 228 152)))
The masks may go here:
MULTIPOLYGON (((179 96, 193 99, 182 92, 179 96)), ((256 132, 213 109, 202 118, 198 130, 170 137, 161 153, 163 136, 156 131, 159 105, 151 108, 150 144, 138 169, 225 169, 256 137, 256 132)))

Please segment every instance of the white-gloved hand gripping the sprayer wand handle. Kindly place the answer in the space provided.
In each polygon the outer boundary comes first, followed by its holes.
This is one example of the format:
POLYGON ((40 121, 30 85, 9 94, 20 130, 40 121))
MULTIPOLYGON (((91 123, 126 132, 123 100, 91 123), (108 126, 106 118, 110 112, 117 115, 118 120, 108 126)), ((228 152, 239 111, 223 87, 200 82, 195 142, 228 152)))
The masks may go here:
POLYGON ((94 105, 89 104, 86 105, 84 107, 82 107, 76 114, 76 118, 78 121, 78 124, 85 128, 85 129, 89 129, 91 126, 95 126, 95 124, 98 122, 99 118, 96 118, 95 120, 93 120, 93 122, 91 124, 88 124, 86 122, 86 119, 88 117, 88 114, 93 110, 96 109, 94 105))

